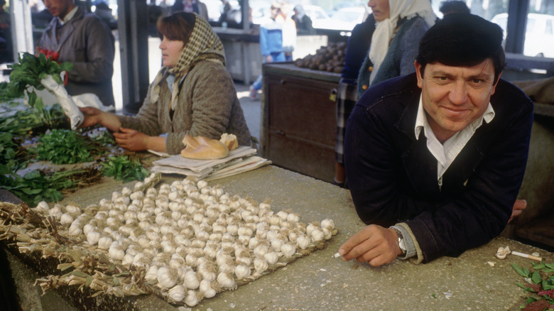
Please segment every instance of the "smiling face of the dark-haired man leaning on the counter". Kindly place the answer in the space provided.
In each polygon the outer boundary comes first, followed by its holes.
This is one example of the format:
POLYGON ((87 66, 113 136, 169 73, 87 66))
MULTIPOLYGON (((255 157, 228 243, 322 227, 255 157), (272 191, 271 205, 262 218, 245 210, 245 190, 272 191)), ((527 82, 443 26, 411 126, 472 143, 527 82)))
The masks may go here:
POLYGON ((433 133, 445 141, 484 114, 494 94, 494 66, 488 58, 472 67, 455 67, 439 62, 425 66, 415 62, 423 108, 433 133))

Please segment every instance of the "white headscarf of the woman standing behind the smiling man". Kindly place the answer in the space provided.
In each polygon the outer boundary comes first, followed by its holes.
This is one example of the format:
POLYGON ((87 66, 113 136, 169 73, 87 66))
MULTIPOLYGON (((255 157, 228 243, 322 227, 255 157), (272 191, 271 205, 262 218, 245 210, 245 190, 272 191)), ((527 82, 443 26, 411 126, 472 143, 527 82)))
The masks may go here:
POLYGON ((430 26, 435 24, 437 16, 431 9, 429 0, 389 0, 389 18, 377 23, 377 27, 371 37, 371 48, 369 48, 369 59, 373 62, 374 70, 369 76, 369 82, 373 81, 376 72, 389 51, 389 43, 393 36, 394 28, 399 18, 411 19, 421 16, 430 26))

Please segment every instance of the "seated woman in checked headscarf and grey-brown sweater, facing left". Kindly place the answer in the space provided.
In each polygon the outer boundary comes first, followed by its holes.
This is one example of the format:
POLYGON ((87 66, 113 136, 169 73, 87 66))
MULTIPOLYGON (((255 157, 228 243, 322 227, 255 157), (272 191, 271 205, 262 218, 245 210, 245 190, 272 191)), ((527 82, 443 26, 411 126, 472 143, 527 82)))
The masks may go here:
POLYGON ((163 67, 148 87, 136 116, 119 116, 92 107, 81 108, 82 127, 101 124, 119 146, 131 151, 178 154, 183 138, 222 133, 251 146, 251 135, 234 83, 224 67, 223 45, 205 19, 178 12, 158 21, 163 67))

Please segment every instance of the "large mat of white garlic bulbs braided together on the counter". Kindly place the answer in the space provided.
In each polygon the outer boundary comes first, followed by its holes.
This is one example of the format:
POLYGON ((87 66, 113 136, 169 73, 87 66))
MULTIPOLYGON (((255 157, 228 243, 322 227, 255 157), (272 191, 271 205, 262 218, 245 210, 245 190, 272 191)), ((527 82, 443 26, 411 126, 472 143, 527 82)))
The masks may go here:
POLYGON ((200 180, 137 182, 81 210, 41 202, 36 210, 67 227, 88 249, 124 268, 143 268, 168 302, 190 307, 234 290, 325 246, 337 234, 331 219, 305 224, 293 212, 229 195, 200 180))

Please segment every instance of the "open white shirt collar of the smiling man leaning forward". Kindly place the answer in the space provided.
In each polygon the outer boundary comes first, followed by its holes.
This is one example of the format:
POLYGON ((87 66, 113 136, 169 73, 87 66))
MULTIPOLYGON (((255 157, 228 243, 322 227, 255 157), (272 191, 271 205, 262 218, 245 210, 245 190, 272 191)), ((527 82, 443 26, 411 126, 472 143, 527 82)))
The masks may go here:
POLYGON ((472 138, 475 131, 479 129, 479 126, 483 124, 483 120, 490 123, 493 118, 494 109, 492 109, 492 105, 489 102, 489 106, 487 107, 487 110, 484 111, 482 116, 466 126, 465 129, 462 129, 462 131, 455 133, 444 143, 440 143, 429 125, 427 114, 425 114, 425 109, 423 109, 421 96, 419 97, 418 115, 415 118, 414 128, 415 139, 419 139, 421 129, 423 129, 423 134, 427 138, 427 148, 437 159, 437 180, 439 187, 442 186, 442 175, 444 175, 450 164, 452 164, 460 151, 462 151, 462 148, 464 148, 469 139, 472 138))

